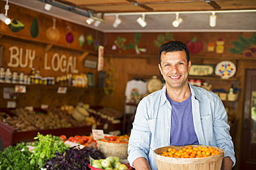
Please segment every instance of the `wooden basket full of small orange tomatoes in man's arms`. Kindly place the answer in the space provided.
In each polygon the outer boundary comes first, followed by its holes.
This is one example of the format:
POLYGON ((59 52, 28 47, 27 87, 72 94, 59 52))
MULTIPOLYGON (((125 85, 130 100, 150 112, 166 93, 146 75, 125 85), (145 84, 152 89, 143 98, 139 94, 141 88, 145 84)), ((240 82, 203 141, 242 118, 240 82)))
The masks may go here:
POLYGON ((220 170, 224 151, 207 145, 167 146, 154 150, 158 170, 220 170))

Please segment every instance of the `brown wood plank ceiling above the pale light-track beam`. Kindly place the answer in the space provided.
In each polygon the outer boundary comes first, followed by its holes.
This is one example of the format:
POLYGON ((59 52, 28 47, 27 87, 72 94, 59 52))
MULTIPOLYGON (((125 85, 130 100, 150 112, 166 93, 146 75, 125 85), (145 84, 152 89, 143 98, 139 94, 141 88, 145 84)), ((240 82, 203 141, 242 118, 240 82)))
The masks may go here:
POLYGON ((255 0, 56 0, 96 13, 253 10, 255 0))

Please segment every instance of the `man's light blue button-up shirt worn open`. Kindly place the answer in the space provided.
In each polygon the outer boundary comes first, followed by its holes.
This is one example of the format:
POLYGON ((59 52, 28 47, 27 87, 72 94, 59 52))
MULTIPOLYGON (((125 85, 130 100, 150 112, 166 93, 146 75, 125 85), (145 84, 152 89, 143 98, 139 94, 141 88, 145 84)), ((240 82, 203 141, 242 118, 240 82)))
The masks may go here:
MULTIPOLYGON (((235 165, 235 151, 229 134, 228 115, 221 99, 203 88, 190 85, 194 130, 200 145, 221 147, 224 157, 235 165)), ((156 170, 154 150, 170 145, 172 105, 166 96, 166 86, 142 100, 136 110, 129 138, 128 161, 144 157, 152 170, 156 170)))

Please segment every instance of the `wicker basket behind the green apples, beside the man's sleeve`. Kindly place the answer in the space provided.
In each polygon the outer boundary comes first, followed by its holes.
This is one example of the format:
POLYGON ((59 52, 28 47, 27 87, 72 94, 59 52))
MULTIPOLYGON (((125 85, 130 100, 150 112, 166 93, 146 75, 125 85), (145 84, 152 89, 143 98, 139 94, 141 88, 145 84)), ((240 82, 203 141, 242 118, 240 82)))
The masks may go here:
POLYGON ((111 143, 97 140, 97 146, 106 157, 116 156, 120 159, 127 159, 128 143, 111 143))

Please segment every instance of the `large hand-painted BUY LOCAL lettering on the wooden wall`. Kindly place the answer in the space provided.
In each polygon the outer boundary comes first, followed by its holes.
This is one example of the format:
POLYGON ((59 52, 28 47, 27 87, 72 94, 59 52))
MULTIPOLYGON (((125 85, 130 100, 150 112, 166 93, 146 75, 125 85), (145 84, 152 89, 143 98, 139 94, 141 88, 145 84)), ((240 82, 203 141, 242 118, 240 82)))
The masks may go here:
MULTIPOLYGON (((22 47, 12 46, 9 47, 10 61, 8 67, 34 67, 35 63, 35 50, 23 49, 22 47)), ((54 72, 71 72, 77 74, 76 69, 77 58, 73 56, 66 56, 54 53, 49 56, 48 53, 44 54, 44 70, 53 70, 54 72)))

